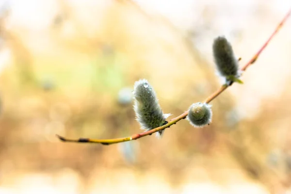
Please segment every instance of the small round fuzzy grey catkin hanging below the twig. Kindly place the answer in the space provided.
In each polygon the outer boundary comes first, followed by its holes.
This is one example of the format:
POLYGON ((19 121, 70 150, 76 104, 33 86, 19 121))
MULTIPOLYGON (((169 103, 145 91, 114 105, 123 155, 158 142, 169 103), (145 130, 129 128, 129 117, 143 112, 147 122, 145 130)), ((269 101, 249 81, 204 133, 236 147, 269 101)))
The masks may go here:
POLYGON ((197 102, 190 106, 187 120, 196 128, 204 127, 211 122, 211 105, 197 102))

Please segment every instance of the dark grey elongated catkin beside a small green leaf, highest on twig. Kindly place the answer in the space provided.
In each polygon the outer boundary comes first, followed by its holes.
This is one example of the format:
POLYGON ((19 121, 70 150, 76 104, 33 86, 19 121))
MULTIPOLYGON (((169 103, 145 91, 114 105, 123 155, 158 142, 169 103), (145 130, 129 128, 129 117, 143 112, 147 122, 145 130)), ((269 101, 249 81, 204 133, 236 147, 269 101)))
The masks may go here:
POLYGON ((214 39, 213 45, 213 57, 217 66, 217 70, 221 76, 239 76, 239 65, 236 59, 230 43, 224 36, 218 36, 214 39))

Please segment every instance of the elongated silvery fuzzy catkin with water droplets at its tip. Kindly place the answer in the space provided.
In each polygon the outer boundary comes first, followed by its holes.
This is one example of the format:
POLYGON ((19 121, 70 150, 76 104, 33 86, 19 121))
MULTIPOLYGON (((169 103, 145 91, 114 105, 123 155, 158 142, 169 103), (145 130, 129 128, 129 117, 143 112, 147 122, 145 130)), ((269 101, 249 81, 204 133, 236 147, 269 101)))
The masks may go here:
MULTIPOLYGON (((147 80, 142 79, 134 83, 134 112, 136 120, 142 129, 150 130, 165 124, 170 114, 162 113, 156 92, 147 80)), ((156 136, 160 138, 164 130, 158 131, 156 136)))

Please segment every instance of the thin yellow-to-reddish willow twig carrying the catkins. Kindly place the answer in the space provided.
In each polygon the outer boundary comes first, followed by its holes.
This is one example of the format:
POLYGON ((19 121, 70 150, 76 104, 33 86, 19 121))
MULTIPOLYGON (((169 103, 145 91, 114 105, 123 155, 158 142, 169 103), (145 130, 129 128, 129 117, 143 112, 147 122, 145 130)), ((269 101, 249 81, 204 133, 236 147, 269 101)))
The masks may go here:
MULTIPOLYGON (((271 36, 263 44, 263 46, 259 49, 259 51, 251 58, 251 60, 248 63, 246 63, 242 67, 242 69, 241 69, 242 71, 245 71, 250 65, 254 64, 257 61, 260 53, 266 48, 266 46, 269 44, 269 42, 272 40, 272 38, 275 36, 275 34, 280 30, 280 28, 284 25, 284 23, 286 22, 286 20, 288 19, 288 17, 290 15, 291 15, 291 9, 288 11, 286 16, 282 19, 282 21, 278 24, 275 31, 271 34, 271 36)), ((229 86, 231 86, 231 84, 229 86)), ((207 97, 204 100, 204 102, 205 103, 211 102, 214 98, 218 97, 222 92, 224 92, 229 86, 222 85, 216 92, 214 92, 209 97, 207 97)), ((186 111, 185 113, 182 113, 181 115, 177 116, 176 118, 171 119, 170 121, 168 121, 167 124, 165 124, 161 127, 151 129, 151 130, 148 130, 148 131, 145 131, 142 133, 138 133, 138 134, 133 134, 132 136, 124 137, 124 138, 116 138, 116 139, 90 139, 90 138, 69 139, 69 138, 62 137, 60 135, 56 135, 56 136, 63 142, 95 143, 95 144, 102 144, 102 145, 111 145, 111 144, 117 144, 117 143, 122 143, 122 142, 128 142, 131 140, 136 140, 136 139, 145 137, 147 135, 151 135, 159 130, 169 128, 170 126, 176 124, 178 121, 185 119, 187 115, 188 115, 188 111, 186 111)))

